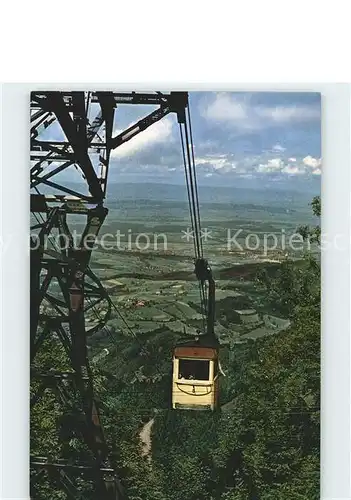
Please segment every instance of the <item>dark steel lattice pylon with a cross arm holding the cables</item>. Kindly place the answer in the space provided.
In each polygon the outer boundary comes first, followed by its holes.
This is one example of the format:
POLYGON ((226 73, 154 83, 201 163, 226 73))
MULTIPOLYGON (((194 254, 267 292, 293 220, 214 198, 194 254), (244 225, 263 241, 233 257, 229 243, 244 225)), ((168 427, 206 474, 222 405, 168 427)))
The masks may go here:
POLYGON ((86 497, 75 478, 86 474, 96 500, 121 500, 122 491, 111 466, 93 377, 87 337, 101 330, 110 317, 110 302, 89 267, 97 235, 107 215, 104 207, 111 151, 168 113, 185 120, 186 92, 32 92, 31 94, 31 367, 35 390, 32 408, 50 390, 64 407, 74 408, 72 428, 89 450, 89 460, 33 456, 33 481, 47 473, 68 498, 86 497), (113 134, 119 104, 156 107, 127 130, 113 134), (51 131, 52 134, 47 132, 51 131), (72 172, 70 175, 69 173, 72 172), (73 184, 73 172, 79 182, 73 184), (70 217, 84 229, 78 241, 70 217), (86 313, 104 304, 102 315, 87 324, 86 313), (45 339, 54 339, 67 355, 68 370, 35 368, 45 339))

